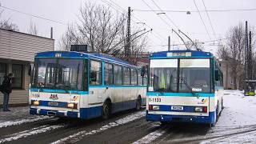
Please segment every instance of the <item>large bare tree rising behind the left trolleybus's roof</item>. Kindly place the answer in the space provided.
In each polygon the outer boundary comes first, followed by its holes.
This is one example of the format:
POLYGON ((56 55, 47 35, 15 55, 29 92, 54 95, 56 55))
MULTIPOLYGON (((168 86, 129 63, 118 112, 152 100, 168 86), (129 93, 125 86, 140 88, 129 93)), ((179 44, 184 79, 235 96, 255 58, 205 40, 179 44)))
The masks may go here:
MULTIPOLYGON (((69 50, 72 44, 87 44, 98 53, 123 58, 126 45, 126 14, 114 13, 110 7, 86 1, 80 7, 78 22, 68 26, 59 46, 69 50)), ((138 38, 131 43, 131 53, 145 45, 146 38, 138 38)))

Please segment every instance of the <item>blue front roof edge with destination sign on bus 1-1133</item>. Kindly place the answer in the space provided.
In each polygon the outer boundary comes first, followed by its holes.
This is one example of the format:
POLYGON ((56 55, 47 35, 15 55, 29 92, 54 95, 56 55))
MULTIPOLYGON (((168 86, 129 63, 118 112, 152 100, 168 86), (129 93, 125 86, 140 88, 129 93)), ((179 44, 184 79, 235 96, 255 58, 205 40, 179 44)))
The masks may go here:
POLYGON ((206 51, 198 50, 170 50, 150 54, 150 58, 213 58, 214 55, 206 51))

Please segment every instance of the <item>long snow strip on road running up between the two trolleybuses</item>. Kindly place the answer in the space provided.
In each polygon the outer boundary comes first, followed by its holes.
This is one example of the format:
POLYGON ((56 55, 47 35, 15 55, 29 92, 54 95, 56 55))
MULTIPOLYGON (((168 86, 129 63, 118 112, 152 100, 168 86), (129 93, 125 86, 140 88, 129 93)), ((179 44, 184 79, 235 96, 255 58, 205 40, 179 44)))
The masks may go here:
POLYGON ((130 114, 130 115, 126 116, 125 118, 118 119, 115 122, 110 122, 109 124, 99 128, 98 130, 91 130, 89 132, 87 132, 86 130, 83 130, 83 131, 78 132, 77 134, 73 134, 73 135, 70 135, 70 136, 68 136, 66 138, 62 138, 62 139, 60 139, 60 140, 58 140, 56 142, 52 142, 51 144, 64 143, 66 141, 78 142, 79 140, 81 140, 86 135, 97 134, 99 132, 108 130, 108 129, 112 128, 112 127, 120 126, 120 125, 126 124, 128 122, 132 122, 132 121, 134 121, 134 120, 136 120, 138 118, 142 118, 144 116, 145 116, 145 111, 140 111, 140 112, 137 112, 137 113, 134 113, 134 114, 130 114))

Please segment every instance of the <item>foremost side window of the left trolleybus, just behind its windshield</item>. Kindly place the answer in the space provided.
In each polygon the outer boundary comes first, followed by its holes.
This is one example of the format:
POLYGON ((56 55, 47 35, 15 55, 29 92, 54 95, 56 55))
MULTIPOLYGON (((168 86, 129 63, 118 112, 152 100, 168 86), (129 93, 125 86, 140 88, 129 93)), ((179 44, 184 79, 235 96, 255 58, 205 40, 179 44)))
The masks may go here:
POLYGON ((102 62, 90 61, 90 85, 102 84, 102 62))

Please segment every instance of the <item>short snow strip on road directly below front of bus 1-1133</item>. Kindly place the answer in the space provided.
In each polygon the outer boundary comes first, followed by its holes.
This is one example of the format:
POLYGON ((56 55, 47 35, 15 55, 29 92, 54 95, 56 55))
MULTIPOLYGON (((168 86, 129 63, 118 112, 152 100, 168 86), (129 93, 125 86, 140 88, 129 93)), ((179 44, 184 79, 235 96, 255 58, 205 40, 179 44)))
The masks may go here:
POLYGON ((163 134, 166 134, 166 130, 155 130, 154 132, 147 134, 145 137, 139 139, 138 141, 134 142, 133 144, 139 143, 151 143, 157 138, 161 137, 163 134))

